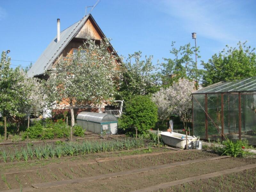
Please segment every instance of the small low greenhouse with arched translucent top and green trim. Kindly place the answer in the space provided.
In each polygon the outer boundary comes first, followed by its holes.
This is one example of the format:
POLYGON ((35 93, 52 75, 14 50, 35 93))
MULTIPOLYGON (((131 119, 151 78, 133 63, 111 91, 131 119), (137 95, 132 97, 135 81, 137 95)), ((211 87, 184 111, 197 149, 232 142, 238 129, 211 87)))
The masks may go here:
POLYGON ((76 117, 77 125, 86 131, 100 135, 117 133, 117 118, 106 113, 81 112, 76 117))

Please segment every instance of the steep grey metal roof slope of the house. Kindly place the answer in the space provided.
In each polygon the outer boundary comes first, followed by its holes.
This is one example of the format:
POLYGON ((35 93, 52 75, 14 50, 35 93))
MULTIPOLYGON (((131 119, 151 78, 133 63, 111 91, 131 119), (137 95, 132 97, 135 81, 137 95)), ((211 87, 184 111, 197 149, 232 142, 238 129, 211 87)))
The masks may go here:
POLYGON ((41 56, 36 60, 34 65, 28 70, 28 77, 38 76, 50 67, 52 62, 58 58, 60 53, 76 35, 79 29, 83 26, 84 22, 91 16, 90 14, 83 19, 77 21, 67 29, 60 32, 60 41, 57 42, 57 36, 53 38, 51 43, 47 46, 41 56))

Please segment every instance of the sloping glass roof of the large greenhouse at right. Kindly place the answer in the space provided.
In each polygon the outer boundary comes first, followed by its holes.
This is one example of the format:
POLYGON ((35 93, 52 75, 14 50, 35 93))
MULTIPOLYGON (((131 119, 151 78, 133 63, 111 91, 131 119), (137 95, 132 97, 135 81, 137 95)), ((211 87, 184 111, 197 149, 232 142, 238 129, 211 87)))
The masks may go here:
POLYGON ((226 93, 226 92, 254 92, 256 91, 256 77, 249 77, 232 82, 219 82, 199 89, 192 94, 226 93))

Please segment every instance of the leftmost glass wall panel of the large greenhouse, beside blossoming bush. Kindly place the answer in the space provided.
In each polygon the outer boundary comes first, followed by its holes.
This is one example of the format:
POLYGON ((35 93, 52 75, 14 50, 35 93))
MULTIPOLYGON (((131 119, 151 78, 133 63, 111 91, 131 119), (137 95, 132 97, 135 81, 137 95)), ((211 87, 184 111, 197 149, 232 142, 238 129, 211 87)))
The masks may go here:
POLYGON ((195 94, 193 95, 193 129, 194 135, 205 139, 205 113, 200 105, 205 107, 205 95, 204 94, 195 94))

